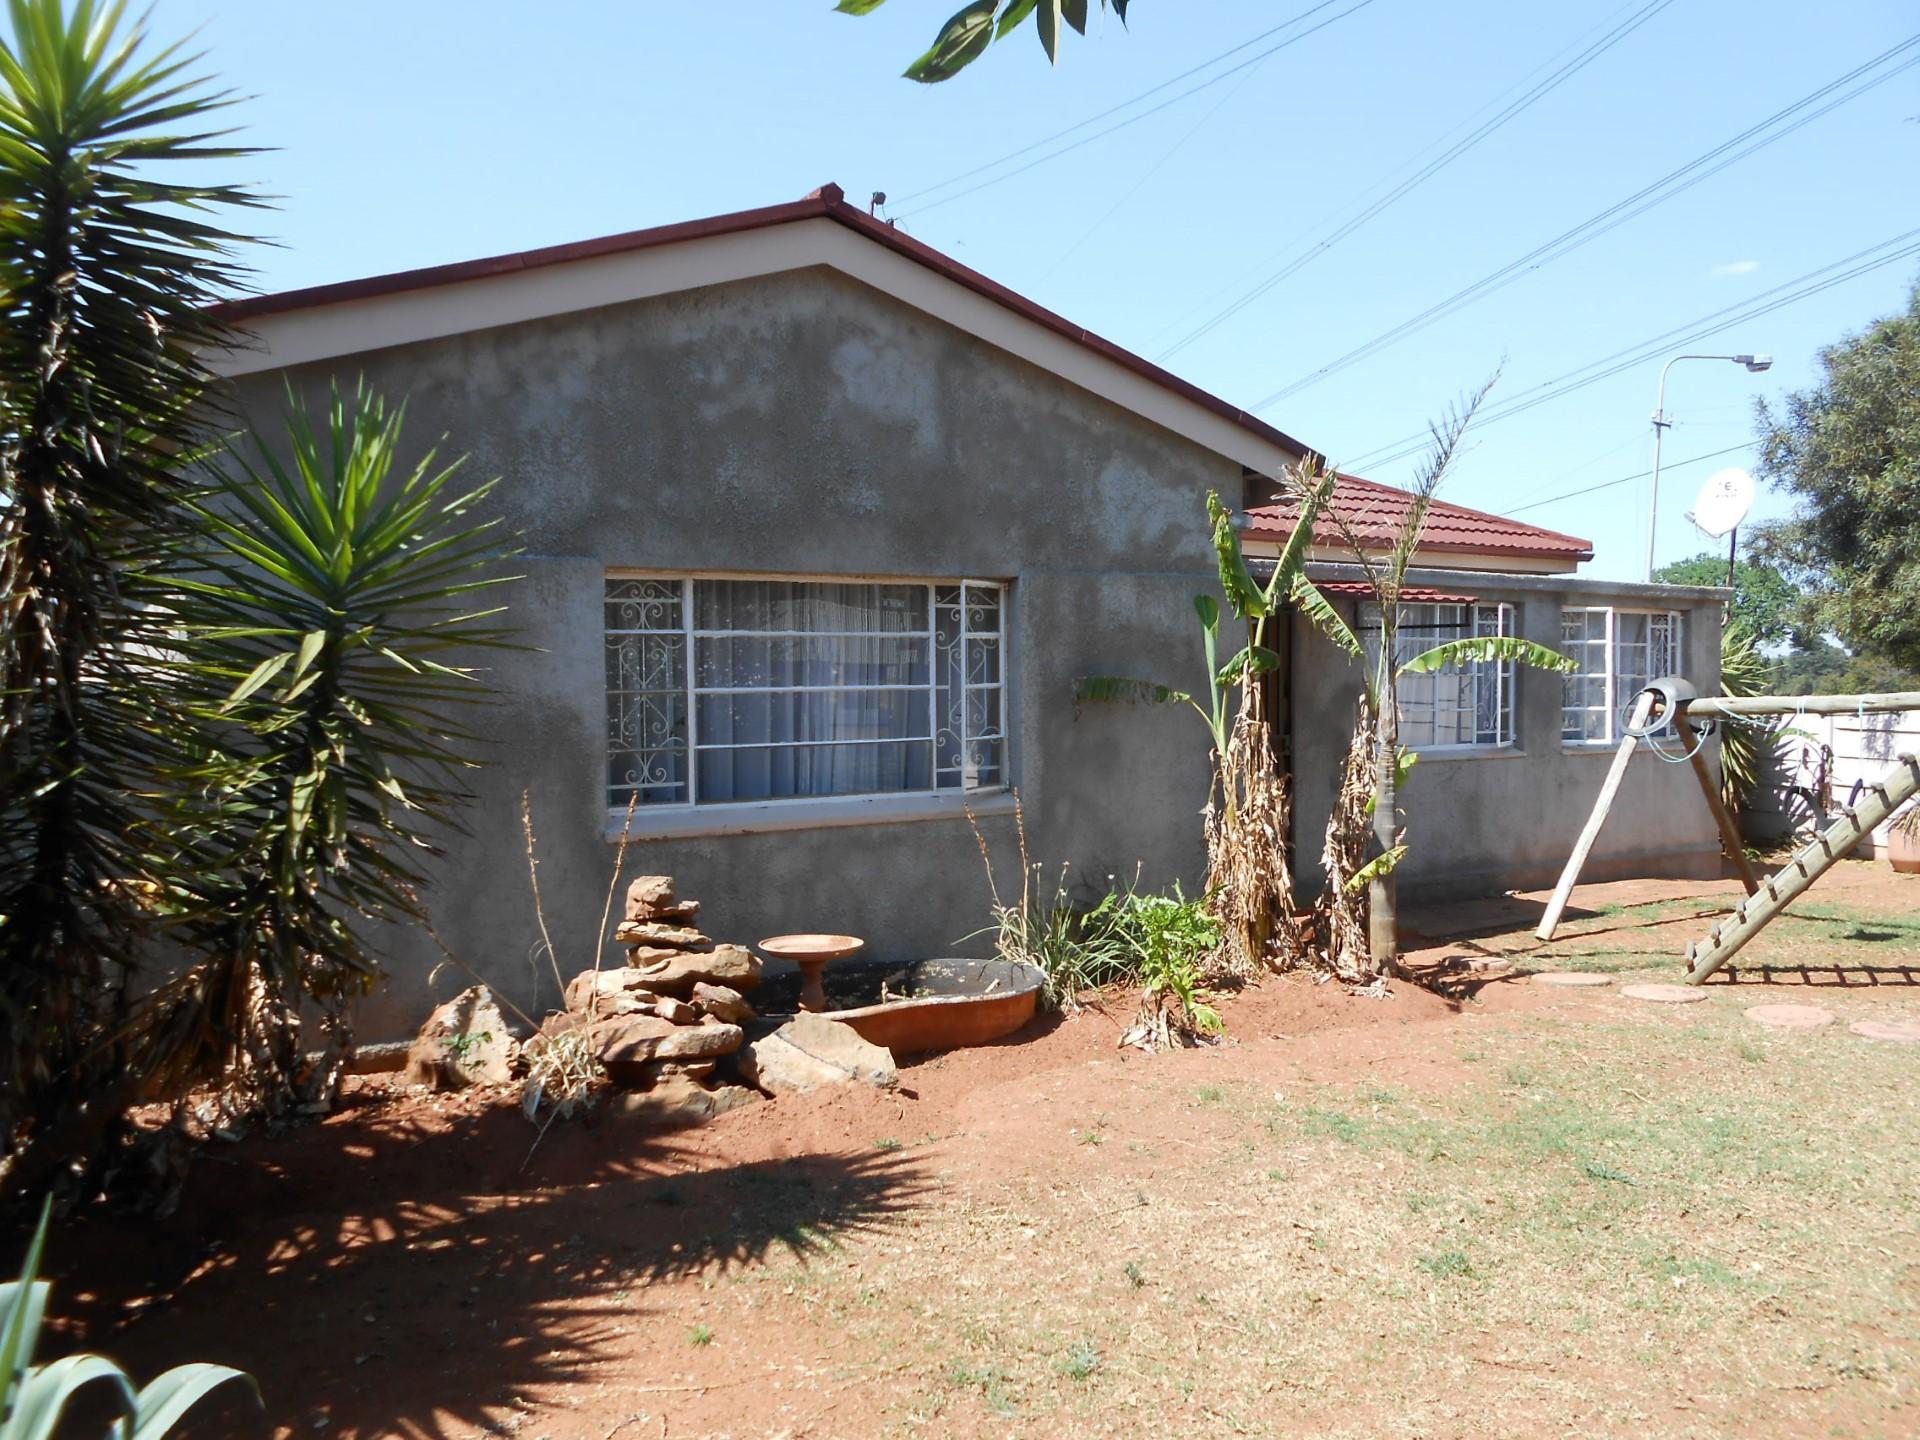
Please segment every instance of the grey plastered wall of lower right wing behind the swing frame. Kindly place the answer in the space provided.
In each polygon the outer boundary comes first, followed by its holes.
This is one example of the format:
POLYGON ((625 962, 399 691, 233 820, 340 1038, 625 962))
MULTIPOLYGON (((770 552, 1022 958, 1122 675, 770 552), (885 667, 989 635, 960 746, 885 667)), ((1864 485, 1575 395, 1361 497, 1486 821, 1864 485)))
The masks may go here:
MULTIPOLYGON (((1346 570, 1329 570, 1346 574, 1346 570)), ((1415 570, 1411 584, 1515 607, 1517 632, 1559 649, 1561 605, 1680 611, 1686 674, 1703 695, 1720 684, 1720 591, 1574 576, 1494 576, 1415 570)), ((1342 603, 1348 620, 1354 605, 1342 603)), ((1327 814, 1352 733, 1361 666, 1294 618, 1294 837, 1308 887, 1319 885, 1327 814)), ((1613 747, 1561 743, 1561 678, 1519 668, 1519 745, 1480 755, 1425 756, 1402 795, 1407 860, 1402 895, 1452 899, 1555 881, 1586 824, 1613 747)), ((1668 749, 1674 749, 1672 745, 1668 749)), ((1718 755, 1715 753, 1715 762, 1718 755)), ((1686 764, 1663 764, 1642 745, 1582 879, 1720 874, 1718 831, 1686 764)))

